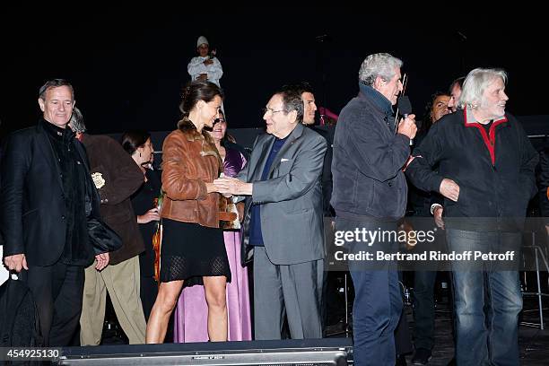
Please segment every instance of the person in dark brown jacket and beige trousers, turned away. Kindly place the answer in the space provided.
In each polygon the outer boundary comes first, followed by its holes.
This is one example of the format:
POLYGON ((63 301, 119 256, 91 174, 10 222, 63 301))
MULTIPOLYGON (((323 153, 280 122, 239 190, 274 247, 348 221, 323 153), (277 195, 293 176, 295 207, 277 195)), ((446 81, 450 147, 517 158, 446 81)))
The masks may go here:
POLYGON ((73 114, 69 126, 90 157, 92 179, 100 195, 101 216, 122 239, 122 248, 110 254, 109 267, 100 273, 92 266, 85 270, 80 344, 100 344, 107 292, 129 343, 144 344, 146 323, 139 296, 138 257, 144 251, 144 244, 130 201, 130 196, 144 183, 143 172, 113 138, 86 134, 80 112, 73 114))

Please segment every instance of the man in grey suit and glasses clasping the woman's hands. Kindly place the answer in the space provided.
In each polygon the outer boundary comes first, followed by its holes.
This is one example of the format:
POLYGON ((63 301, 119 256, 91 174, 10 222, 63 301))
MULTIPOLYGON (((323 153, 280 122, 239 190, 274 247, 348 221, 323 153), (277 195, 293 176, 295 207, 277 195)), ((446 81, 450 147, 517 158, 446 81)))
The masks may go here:
POLYGON ((284 314, 293 339, 321 338, 326 140, 301 124, 297 92, 275 93, 263 118, 267 135, 257 137, 237 179, 213 183, 223 194, 251 196, 243 226, 249 229, 244 240, 254 248, 256 339, 280 339, 284 314))

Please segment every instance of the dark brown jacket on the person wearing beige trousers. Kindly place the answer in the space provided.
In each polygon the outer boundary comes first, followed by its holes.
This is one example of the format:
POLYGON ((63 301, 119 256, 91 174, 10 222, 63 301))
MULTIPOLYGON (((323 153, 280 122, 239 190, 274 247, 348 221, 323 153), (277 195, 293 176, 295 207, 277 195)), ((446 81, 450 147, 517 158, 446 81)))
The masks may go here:
MULTIPOLYGON (((117 265, 144 251, 143 238, 135 220, 130 196, 144 183, 143 172, 118 142, 105 135, 83 135, 96 187, 101 179, 100 212, 103 220, 118 233, 122 248, 110 253, 117 265)), ((100 184, 99 184, 100 186, 100 184)))

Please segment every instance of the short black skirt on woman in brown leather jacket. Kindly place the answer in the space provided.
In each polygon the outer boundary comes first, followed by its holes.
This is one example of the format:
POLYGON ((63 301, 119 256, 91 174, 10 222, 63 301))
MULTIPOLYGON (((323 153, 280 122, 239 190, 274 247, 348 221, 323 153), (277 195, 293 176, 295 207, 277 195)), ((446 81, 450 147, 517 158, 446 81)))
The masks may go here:
POLYGON ((221 229, 170 219, 162 219, 162 227, 161 282, 184 280, 188 287, 204 284, 204 275, 224 275, 231 282, 221 229))

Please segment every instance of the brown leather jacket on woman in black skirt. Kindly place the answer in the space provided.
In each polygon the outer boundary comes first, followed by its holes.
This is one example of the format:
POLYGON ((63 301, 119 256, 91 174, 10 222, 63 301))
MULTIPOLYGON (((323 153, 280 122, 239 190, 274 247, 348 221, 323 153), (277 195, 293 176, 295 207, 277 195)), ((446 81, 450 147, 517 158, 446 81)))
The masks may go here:
POLYGON ((205 183, 219 177, 221 157, 212 138, 205 131, 196 131, 188 118, 180 120, 178 127, 162 146, 162 190, 166 195, 161 217, 219 228, 219 221, 226 219, 227 201, 219 193, 207 193, 205 183))

